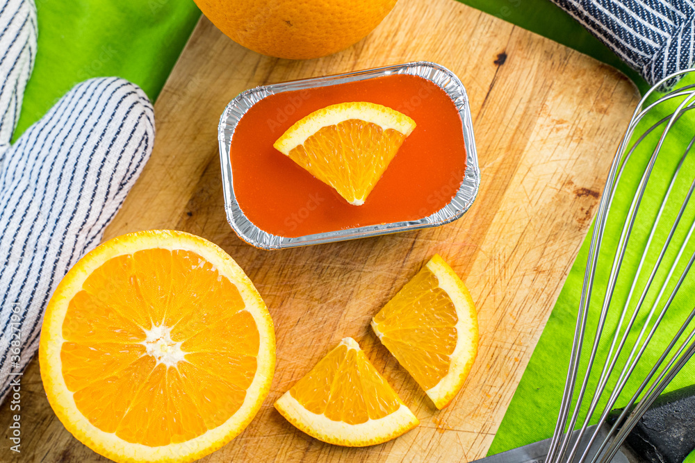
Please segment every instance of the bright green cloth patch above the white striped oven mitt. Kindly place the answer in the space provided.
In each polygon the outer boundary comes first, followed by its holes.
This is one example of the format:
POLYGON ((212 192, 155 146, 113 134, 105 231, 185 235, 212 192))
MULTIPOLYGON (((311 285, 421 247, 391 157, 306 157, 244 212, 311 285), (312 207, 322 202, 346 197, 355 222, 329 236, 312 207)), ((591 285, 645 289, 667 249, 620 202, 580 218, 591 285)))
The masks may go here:
POLYGON ((200 16, 193 0, 35 1, 38 52, 15 140, 88 78, 126 78, 154 101, 200 16))

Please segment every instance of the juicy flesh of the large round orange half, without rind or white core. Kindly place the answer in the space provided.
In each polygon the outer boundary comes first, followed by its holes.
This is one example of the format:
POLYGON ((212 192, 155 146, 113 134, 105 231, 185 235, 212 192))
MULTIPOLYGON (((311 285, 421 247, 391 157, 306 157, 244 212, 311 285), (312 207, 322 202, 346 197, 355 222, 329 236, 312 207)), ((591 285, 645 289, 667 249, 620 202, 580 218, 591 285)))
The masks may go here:
MULTIPOLYGON (((163 446, 227 421, 256 373, 259 331, 236 285, 191 251, 147 249, 106 261, 67 309, 60 359, 80 412, 104 432, 163 446), (171 328, 185 360, 147 353, 171 328)), ((169 344, 171 347, 172 344, 169 344)))

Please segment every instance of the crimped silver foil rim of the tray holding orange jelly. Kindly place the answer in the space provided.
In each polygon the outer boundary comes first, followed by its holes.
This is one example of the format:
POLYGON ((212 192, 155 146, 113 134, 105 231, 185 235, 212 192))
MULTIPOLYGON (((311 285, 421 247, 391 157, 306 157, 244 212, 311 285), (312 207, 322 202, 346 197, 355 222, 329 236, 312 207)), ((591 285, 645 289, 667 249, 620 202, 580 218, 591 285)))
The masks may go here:
POLYGON ((480 187, 480 168, 477 162, 475 139, 473 137, 473 121, 471 120, 471 108, 468 103, 468 94, 459 78, 449 69, 429 61, 408 62, 402 65, 393 65, 355 71, 334 76, 306 78, 300 81, 261 85, 245 90, 229 102, 218 126, 218 141, 220 143, 220 163, 222 165, 222 187, 224 190, 224 210, 227 212, 227 221, 234 232, 245 242, 261 249, 285 249, 309 244, 322 244, 346 239, 386 235, 407 230, 418 230, 448 224, 459 219, 473 204, 480 187), (261 230, 250 221, 241 210, 236 195, 234 194, 234 178, 231 168, 231 138, 240 119, 254 104, 266 96, 280 92, 304 90, 312 87, 325 87, 340 83, 362 81, 368 78, 389 76, 392 74, 411 74, 427 79, 439 86, 454 102, 459 117, 461 129, 464 135, 466 148, 466 171, 463 182, 450 203, 423 219, 414 221, 392 222, 347 228, 332 232, 316 233, 301 237, 282 237, 261 230))

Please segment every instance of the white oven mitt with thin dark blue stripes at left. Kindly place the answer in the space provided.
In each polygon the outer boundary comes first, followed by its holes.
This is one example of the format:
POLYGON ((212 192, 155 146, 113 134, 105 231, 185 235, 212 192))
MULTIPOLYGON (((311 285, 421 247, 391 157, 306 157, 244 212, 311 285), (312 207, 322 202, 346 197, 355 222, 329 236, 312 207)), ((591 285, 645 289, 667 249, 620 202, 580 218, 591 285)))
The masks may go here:
POLYGON ((76 85, 10 146, 36 53, 30 0, 0 7, 0 401, 38 348, 44 308, 68 269, 101 241, 154 142, 136 85, 76 85))

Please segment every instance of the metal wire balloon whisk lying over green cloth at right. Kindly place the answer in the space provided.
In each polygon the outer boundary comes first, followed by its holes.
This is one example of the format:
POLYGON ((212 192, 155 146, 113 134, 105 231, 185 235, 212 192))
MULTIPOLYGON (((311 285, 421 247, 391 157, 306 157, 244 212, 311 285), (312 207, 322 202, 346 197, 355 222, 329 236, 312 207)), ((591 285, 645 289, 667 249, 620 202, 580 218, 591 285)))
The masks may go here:
MULTIPOLYGON (((664 391, 669 382, 671 382, 678 374, 678 371, 682 369, 690 357, 695 353, 695 327, 693 327, 686 339, 680 342, 676 352, 669 358, 669 354, 685 334, 690 323, 695 319, 695 308, 693 308, 680 326, 678 332, 676 332, 676 335, 671 339, 667 348, 665 348, 658 359, 651 365, 651 369, 649 369, 646 376, 641 380, 636 392, 628 399, 626 407, 610 428, 607 439, 600 442, 598 451, 590 452, 592 444, 598 439, 600 427, 605 424, 610 411, 626 389, 628 381, 630 381, 632 376, 637 372, 638 363, 644 359, 644 353, 647 351, 648 346, 651 345, 650 343, 655 337, 657 328, 659 328, 662 321, 664 321, 664 318, 667 316, 667 311, 671 308, 678 291, 686 280, 689 270, 695 263, 695 252, 693 252, 682 271, 680 271, 680 273, 677 272, 682 266, 682 258, 687 251, 688 244, 691 242, 692 235, 695 233, 695 218, 692 219, 692 224, 689 224, 685 239, 682 240, 680 246, 678 246, 675 242, 676 240, 674 240, 674 237, 682 234, 679 231, 682 228, 680 227, 682 225, 682 219, 687 215, 687 206, 695 192, 695 180, 693 180, 689 190, 687 190, 685 194, 685 199, 683 199, 680 208, 678 208, 675 219, 673 219, 673 224, 669 228, 669 233, 665 237, 664 244, 662 244, 660 251, 658 251, 653 267, 651 267, 651 270, 648 270, 648 264, 651 262, 651 256, 653 254, 650 253, 650 251, 653 247, 656 247, 657 242, 662 238, 662 235, 659 233, 660 228, 662 228, 662 222, 667 220, 667 216, 669 215, 667 212, 671 211, 673 203, 678 203, 674 198, 674 196, 678 196, 676 194, 678 190, 677 184, 679 183, 682 172, 687 170, 684 166, 695 144, 695 136, 692 137, 692 140, 682 153, 678 165, 673 169, 673 175, 669 180, 666 192, 659 195, 660 205, 658 208, 652 208, 651 205, 646 206, 644 201, 646 197, 649 197, 650 203, 653 199, 653 194, 646 196, 646 191, 648 185, 651 185, 655 181, 652 178, 652 174, 657 160, 669 158, 670 153, 662 153, 662 151, 664 151, 664 142, 666 142, 671 134, 673 126, 678 123, 682 117, 687 115, 689 110, 695 108, 695 84, 676 88, 660 98, 655 99, 652 103, 647 103, 647 101, 653 99, 654 92, 662 83, 693 71, 695 71, 695 69, 687 69, 667 76, 644 95, 633 112, 632 120, 630 124, 628 124, 626 133, 619 144, 615 158, 610 167, 607 184, 600 199, 596 222, 591 235, 589 256, 587 258, 587 267, 584 271, 584 279, 582 282, 582 293, 580 296, 572 349, 570 352, 569 367, 562 401, 560 402, 557 423, 555 424, 553 437, 550 439, 550 448, 546 457, 546 462, 579 463, 586 462, 589 458, 591 458, 591 463, 610 462, 616 455, 616 452, 626 439, 630 430, 635 427, 635 424, 639 421, 649 405, 651 405, 657 396, 664 391), (637 140, 632 143, 630 149, 628 149, 639 124, 641 124, 655 108, 667 103, 673 103, 674 101, 678 102, 678 107, 667 117, 663 117, 644 130, 644 132, 637 137, 637 140), (650 139, 649 135, 655 133, 657 129, 662 129, 662 132, 651 152, 651 157, 644 168, 644 172, 641 174, 637 190, 630 202, 630 208, 628 208, 626 217, 623 219, 623 226, 610 266, 610 273, 607 280, 605 280, 607 286, 603 293, 603 300, 601 301, 600 312, 598 313, 594 339, 585 342, 584 338, 588 330, 587 325, 589 323, 589 317, 593 315, 590 310, 592 296, 598 295, 598 288, 595 287, 597 269, 599 267, 605 267, 603 264, 599 265, 599 260, 601 258, 602 244, 604 244, 604 238, 607 233, 607 226, 609 225, 609 217, 612 217, 610 214, 611 207, 616 199, 616 193, 619 191, 621 180, 624 180, 623 174, 626 174, 628 162, 635 154, 638 146, 644 147, 643 142, 650 139), (642 209, 640 209, 641 206, 642 209), (644 212, 644 210, 647 210, 647 212, 644 212), (620 301, 615 298, 619 279, 630 278, 630 275, 626 274, 629 272, 626 270, 625 265, 628 246, 630 246, 632 242, 635 242, 633 231, 637 224, 639 224, 640 229, 643 225, 641 221, 638 221, 637 217, 640 214, 652 214, 654 211, 656 211, 655 218, 649 228, 646 244, 641 250, 639 264, 637 264, 636 267, 632 267, 636 268, 636 273, 632 276, 632 282, 630 283, 626 301, 620 301), (671 255, 673 249, 676 249, 676 247, 678 247, 678 251, 676 252, 675 260, 670 264, 668 271, 665 271, 665 269, 662 268, 662 264, 667 262, 667 255, 671 255), (644 280, 644 283, 641 283, 643 280, 641 275, 643 271, 646 270, 648 270, 648 276, 646 280, 644 280), (662 280, 663 273, 666 273, 666 275, 662 280), (679 274, 678 280, 676 280, 673 289, 669 292, 669 287, 672 285, 674 275, 676 274, 679 274), (661 282, 660 285, 656 286, 658 289, 653 285, 657 280, 661 282), (641 287, 641 292, 639 291, 640 283, 644 285, 644 287, 641 287), (654 291, 652 291, 653 287, 654 291), (653 296, 654 292, 656 292, 655 296, 653 296), (639 298, 637 299, 635 308, 632 309, 632 313, 630 313, 632 301, 637 294, 639 294, 639 298), (669 296, 662 304, 664 296, 667 294, 669 294, 669 296), (643 310, 643 306, 647 301, 649 301, 649 303, 646 304, 648 309, 645 308, 643 310), (644 314, 645 311, 646 316, 644 314), (596 376, 594 374, 596 373, 594 367, 598 367, 601 363, 598 362, 598 353, 606 340, 604 337, 611 336, 607 334, 607 332, 610 331, 606 329, 607 322, 609 319, 612 320, 613 318, 617 319, 617 325, 612 333, 612 339, 610 341, 610 347, 607 349, 605 362, 603 362, 603 366, 600 367, 600 375, 598 376, 596 388, 591 391, 591 378, 596 376), (627 323, 625 323, 626 319, 628 319, 627 323), (641 328, 635 337, 635 330, 633 328, 639 326, 640 323, 641 328), (634 342, 630 340, 632 337, 634 337, 634 342), (629 353, 626 354, 626 345, 630 344, 630 342, 632 342, 632 345, 628 349, 629 353), (584 344, 587 344, 587 346, 591 344, 591 351, 585 359, 582 357, 582 351, 587 347, 584 346, 584 344), (614 386, 610 388, 609 385, 610 382, 612 382, 611 378, 614 376, 614 371, 616 367, 619 366, 619 362, 621 362, 621 358, 623 357, 626 357, 626 360, 621 363, 621 368, 619 368, 620 373, 614 382, 614 386), (669 360, 666 366, 662 367, 667 358, 669 358, 669 360), (580 376, 580 365, 583 363, 586 363, 586 369, 582 374, 582 382, 577 388, 577 382, 580 376), (608 389, 610 389, 610 394, 608 394, 605 406, 603 409, 600 409, 599 404, 605 400, 605 392, 608 389), (584 412, 582 411, 582 403, 584 403, 585 396, 590 397, 590 400, 588 409, 584 412), (637 399, 640 396, 641 401, 637 403, 637 399), (637 405, 635 405, 635 403, 637 403, 637 405), (600 411, 598 426, 591 434, 588 444, 584 444, 584 442, 582 442, 582 437, 587 433, 589 423, 591 423, 591 419, 597 411, 600 411), (584 418, 580 419, 582 414, 584 414, 584 418), (573 432, 578 423, 581 423, 578 431, 573 432), (580 446, 580 442, 582 442, 581 445, 584 446, 584 448, 580 446)), ((639 240, 639 237, 637 240, 639 240)), ((603 251, 605 253, 605 250, 603 251)), ((605 282, 600 282, 600 284, 603 283, 605 282)), ((584 441, 586 441, 586 439, 584 439, 584 441)))

